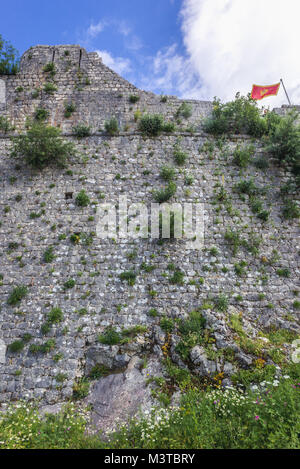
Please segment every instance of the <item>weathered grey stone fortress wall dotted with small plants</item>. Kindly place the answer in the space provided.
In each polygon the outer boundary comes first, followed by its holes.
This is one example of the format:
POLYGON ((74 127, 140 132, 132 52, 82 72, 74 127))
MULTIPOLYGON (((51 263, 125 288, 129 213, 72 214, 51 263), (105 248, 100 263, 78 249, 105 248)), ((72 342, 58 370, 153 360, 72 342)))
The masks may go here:
MULTIPOLYGON (((209 114, 211 103, 186 100, 193 113, 184 124, 194 125, 194 133, 183 129, 145 138, 136 130, 137 109, 161 113, 171 120, 183 101, 168 97, 163 103, 159 96, 138 90, 106 67, 97 54, 88 54, 80 46, 33 47, 23 55, 20 72, 2 79, 5 87, 0 83, 0 112, 16 131, 24 130, 26 118, 38 107, 46 108, 49 123, 60 126, 66 138, 76 143, 79 156, 67 170, 34 171, 16 165, 9 156, 8 136, 0 137, 0 403, 40 398, 53 404, 71 397, 74 382, 96 363, 122 370, 136 355, 163 357, 161 347, 166 337, 159 327, 160 318, 184 318, 208 298, 222 294, 230 298, 230 312, 242 314, 252 337, 271 325, 299 331, 299 317, 292 306, 299 288, 299 228, 295 221, 283 222, 279 197, 280 184, 287 176, 276 166, 267 171, 250 166, 243 171, 243 178, 252 177, 267 188, 263 202, 271 216, 263 223, 232 190, 241 178, 240 168, 232 165, 232 152, 249 139, 237 136, 226 143, 226 150, 215 145, 207 152, 202 147, 211 141, 201 130, 201 120, 209 114), (53 79, 43 72, 52 61, 56 66, 53 79), (43 91, 47 81, 57 85, 53 95, 43 91), (36 89, 40 90, 38 97, 32 98, 36 89), (136 104, 129 102, 132 94, 140 96, 136 104), (76 106, 69 119, 64 118, 65 102, 76 106), (122 129, 115 137, 100 131, 112 116, 122 129), (90 125, 93 135, 80 141, 70 136, 79 122, 90 125), (163 185, 160 168, 173 164, 178 143, 189 158, 183 168, 176 167, 174 200, 204 204, 204 249, 186 249, 185 241, 159 246, 150 239, 120 241, 93 236, 97 205, 102 202, 118 204, 120 194, 127 194, 130 202, 153 202, 153 188, 163 185), (186 184, 187 175, 193 177, 191 185, 186 184), (230 194, 231 210, 216 202, 221 185, 230 194), (75 204, 82 189, 91 200, 85 208, 75 204), (259 254, 251 255, 242 248, 234 256, 224 241, 228 228, 238 228, 247 239, 253 234, 261 237, 259 254), (72 243, 74 233, 85 233, 90 243, 72 243), (55 259, 45 263, 43 256, 50 246, 55 259), (212 251, 213 247, 217 251, 212 251), (275 250, 278 259, 271 264, 267 261, 275 250), (247 269, 240 278, 234 265, 243 260, 247 269), (147 272, 142 263, 153 270, 147 272), (170 263, 184 272, 183 285, 170 283, 170 263), (288 268, 290 276, 278 276, 279 267, 288 268), (129 270, 137 273, 134 286, 119 278, 129 270), (70 278, 76 284, 68 290, 64 283, 70 278), (16 285, 26 285, 28 295, 13 307, 7 298, 16 285), (63 321, 45 336, 40 328, 53 307, 62 309, 63 321), (149 315, 152 308, 158 317, 149 315), (123 346, 99 344, 97 337, 111 325, 144 325, 147 332, 123 346), (29 343, 20 353, 10 352, 9 344, 25 333, 31 335, 29 343), (43 344, 51 338, 55 340, 51 351, 30 353, 30 344, 43 344), (63 382, 58 381, 58 375, 65 375, 63 382)), ((261 152, 257 143, 256 156, 261 152)), ((236 345, 226 315, 208 310, 206 316, 216 350, 232 348, 243 366, 254 360, 236 345)), ((174 351, 177 339, 172 340, 172 359, 182 365, 174 351)), ((228 373, 234 369, 225 358, 216 359, 211 366, 228 373)))

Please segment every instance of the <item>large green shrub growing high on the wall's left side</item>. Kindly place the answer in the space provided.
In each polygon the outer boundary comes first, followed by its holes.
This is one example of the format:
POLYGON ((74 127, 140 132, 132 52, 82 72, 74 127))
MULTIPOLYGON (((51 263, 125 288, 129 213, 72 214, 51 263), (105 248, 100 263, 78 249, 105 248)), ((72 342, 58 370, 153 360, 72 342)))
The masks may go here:
POLYGON ((35 168, 43 168, 50 164, 64 167, 70 156, 75 155, 75 147, 65 142, 60 129, 34 123, 26 135, 13 137, 12 157, 24 157, 27 164, 35 168))

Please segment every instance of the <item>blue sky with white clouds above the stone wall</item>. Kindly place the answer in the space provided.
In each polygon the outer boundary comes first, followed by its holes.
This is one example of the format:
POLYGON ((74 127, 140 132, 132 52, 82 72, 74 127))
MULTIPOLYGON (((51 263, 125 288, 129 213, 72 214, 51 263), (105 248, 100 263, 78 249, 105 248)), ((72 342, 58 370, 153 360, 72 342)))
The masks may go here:
MULTIPOLYGON (((23 53, 81 44, 142 89, 223 100, 283 78, 300 103, 299 0, 11 0, 0 34, 23 53)), ((262 101, 286 103, 283 90, 262 101)))

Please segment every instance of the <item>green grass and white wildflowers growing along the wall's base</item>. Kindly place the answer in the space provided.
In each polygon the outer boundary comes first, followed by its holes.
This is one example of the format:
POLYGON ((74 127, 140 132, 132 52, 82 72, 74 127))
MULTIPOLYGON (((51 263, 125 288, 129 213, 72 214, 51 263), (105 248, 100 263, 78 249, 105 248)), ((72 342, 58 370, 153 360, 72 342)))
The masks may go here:
MULTIPOLYGON (((186 370, 167 369, 183 388, 189 383, 186 370)), ((188 389, 177 409, 153 409, 105 440, 88 435, 88 414, 74 404, 45 416, 34 404, 12 405, 0 416, 1 449, 299 449, 299 364, 288 367, 284 378, 276 378, 272 367, 252 371, 258 383, 265 382, 257 390, 250 389, 247 374, 239 376, 244 389, 188 389)), ((82 378, 73 397, 85 397, 88 389, 82 378)))

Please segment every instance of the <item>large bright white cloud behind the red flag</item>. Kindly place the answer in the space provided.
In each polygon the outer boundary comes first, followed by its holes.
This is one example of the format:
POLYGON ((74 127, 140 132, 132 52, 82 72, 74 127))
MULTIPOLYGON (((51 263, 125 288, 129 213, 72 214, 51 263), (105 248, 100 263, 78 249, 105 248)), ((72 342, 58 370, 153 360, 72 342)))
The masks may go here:
MULTIPOLYGON (((230 100, 253 83, 283 78, 292 102, 300 103, 299 16, 299 0, 184 0, 182 32, 202 82, 198 97, 230 100)), ((261 103, 286 103, 283 89, 261 103)))

